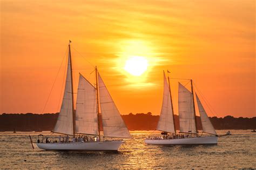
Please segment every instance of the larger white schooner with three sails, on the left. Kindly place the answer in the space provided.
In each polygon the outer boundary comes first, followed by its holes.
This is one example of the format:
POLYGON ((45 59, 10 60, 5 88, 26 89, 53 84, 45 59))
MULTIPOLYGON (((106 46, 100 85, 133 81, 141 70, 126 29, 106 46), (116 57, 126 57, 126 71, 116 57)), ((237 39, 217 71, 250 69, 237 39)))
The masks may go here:
POLYGON ((72 135, 73 137, 75 134, 98 135, 99 140, 90 142, 37 142, 36 145, 45 150, 118 151, 120 145, 124 143, 122 139, 132 137, 103 79, 100 77, 97 67, 95 70, 96 87, 82 74, 79 75, 76 112, 74 110, 70 43, 62 107, 52 132, 72 135), (102 113, 103 139, 100 137, 99 105, 102 113), (120 140, 104 140, 104 137, 119 138, 120 140))

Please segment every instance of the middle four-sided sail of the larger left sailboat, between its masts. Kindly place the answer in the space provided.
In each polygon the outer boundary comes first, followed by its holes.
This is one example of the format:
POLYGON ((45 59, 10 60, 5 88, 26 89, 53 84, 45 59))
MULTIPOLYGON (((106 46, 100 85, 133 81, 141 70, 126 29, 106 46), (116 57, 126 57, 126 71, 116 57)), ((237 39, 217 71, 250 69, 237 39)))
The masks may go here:
POLYGON ((76 107, 76 133, 98 135, 96 89, 81 74, 76 107))

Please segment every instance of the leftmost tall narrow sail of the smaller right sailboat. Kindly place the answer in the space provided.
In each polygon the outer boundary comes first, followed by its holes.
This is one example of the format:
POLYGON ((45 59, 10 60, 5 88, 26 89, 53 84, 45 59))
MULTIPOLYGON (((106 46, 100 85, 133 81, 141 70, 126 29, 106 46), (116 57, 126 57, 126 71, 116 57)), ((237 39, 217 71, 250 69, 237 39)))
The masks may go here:
POLYGON ((160 113, 160 117, 157 125, 157 130, 175 133, 174 124, 173 124, 171 94, 169 90, 169 85, 165 77, 165 73, 164 73, 163 104, 162 104, 161 113, 160 113))

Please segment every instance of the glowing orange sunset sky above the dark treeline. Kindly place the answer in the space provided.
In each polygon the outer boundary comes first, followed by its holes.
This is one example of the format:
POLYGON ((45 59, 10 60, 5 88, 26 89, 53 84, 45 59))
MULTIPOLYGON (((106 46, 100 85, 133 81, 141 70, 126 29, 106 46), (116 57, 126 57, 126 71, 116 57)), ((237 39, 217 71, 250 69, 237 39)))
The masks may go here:
POLYGON ((209 116, 256 116, 255 1, 1 0, 0 113, 59 112, 69 39, 75 92, 97 65, 122 114, 159 115, 169 70, 209 116))

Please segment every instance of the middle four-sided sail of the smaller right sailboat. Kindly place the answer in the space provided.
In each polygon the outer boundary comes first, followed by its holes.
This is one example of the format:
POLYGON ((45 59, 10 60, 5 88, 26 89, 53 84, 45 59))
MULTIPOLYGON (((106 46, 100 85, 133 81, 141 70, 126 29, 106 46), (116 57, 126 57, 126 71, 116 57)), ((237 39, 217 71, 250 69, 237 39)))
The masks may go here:
POLYGON ((196 133, 192 93, 179 83, 180 132, 196 133))

